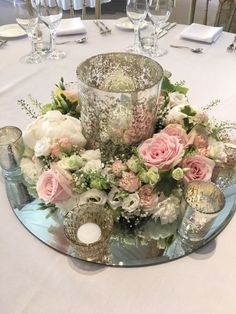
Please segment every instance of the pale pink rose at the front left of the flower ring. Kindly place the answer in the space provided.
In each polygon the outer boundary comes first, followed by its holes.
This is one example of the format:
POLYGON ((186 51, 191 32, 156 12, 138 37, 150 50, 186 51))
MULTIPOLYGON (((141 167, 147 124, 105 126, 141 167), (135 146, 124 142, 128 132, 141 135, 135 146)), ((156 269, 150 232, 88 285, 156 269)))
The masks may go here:
POLYGON ((68 172, 53 167, 44 171, 37 182, 37 193, 46 204, 60 203, 68 200, 72 195, 72 179, 68 172))

